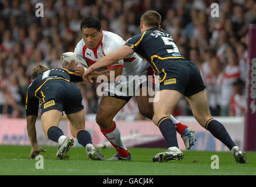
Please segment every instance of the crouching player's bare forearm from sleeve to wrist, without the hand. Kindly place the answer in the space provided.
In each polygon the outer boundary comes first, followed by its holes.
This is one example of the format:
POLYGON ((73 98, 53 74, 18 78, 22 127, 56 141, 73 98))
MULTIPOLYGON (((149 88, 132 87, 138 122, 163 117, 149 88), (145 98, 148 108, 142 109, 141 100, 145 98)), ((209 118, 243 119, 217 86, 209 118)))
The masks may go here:
POLYGON ((27 116, 27 134, 32 147, 37 146, 36 116, 27 116))

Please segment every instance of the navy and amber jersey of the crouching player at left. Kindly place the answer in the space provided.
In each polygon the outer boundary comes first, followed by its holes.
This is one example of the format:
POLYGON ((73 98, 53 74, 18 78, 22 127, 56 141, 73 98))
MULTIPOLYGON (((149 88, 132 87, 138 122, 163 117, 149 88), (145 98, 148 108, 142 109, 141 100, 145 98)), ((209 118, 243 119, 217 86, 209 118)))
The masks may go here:
POLYGON ((71 69, 56 68, 41 72, 27 88, 26 115, 37 116, 39 103, 42 105, 45 102, 46 92, 54 95, 58 84, 76 81, 82 81, 82 78, 71 69))

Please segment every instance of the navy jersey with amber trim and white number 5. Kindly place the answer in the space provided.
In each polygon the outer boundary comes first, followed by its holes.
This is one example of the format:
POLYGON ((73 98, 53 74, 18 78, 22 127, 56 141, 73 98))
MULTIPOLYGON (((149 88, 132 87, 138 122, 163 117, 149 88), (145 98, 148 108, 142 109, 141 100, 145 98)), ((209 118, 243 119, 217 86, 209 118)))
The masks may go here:
POLYGON ((170 60, 185 59, 179 53, 171 34, 158 27, 152 27, 127 40, 126 46, 133 49, 144 60, 161 73, 170 60))

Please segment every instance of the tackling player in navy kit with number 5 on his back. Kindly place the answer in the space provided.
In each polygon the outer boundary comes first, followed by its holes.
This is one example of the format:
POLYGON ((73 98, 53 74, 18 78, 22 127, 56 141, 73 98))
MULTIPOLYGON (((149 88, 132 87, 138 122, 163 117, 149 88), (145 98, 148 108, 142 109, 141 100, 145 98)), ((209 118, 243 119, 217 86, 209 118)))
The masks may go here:
POLYGON ((114 53, 92 64, 83 75, 83 79, 94 70, 111 65, 136 52, 143 57, 160 75, 160 91, 155 93, 153 122, 159 127, 168 150, 153 157, 153 161, 182 160, 184 154, 178 148, 174 123, 169 119, 177 103, 184 95, 191 106, 193 116, 198 123, 222 141, 234 155, 237 163, 247 163, 245 153, 231 140, 222 123, 210 115, 205 85, 199 68, 179 53, 171 34, 160 29, 161 15, 147 11, 141 16, 141 34, 131 39, 114 53))

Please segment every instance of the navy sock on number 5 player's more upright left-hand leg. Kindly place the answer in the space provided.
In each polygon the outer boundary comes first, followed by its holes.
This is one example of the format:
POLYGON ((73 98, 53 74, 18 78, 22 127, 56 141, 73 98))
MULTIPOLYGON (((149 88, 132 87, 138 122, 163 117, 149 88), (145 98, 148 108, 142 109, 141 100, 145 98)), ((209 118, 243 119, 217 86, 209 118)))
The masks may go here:
POLYGON ((157 126, 159 127, 162 136, 164 136, 164 139, 167 143, 168 147, 178 147, 178 141, 177 141, 177 133, 175 129, 174 123, 172 123, 172 120, 169 117, 162 117, 157 126))

